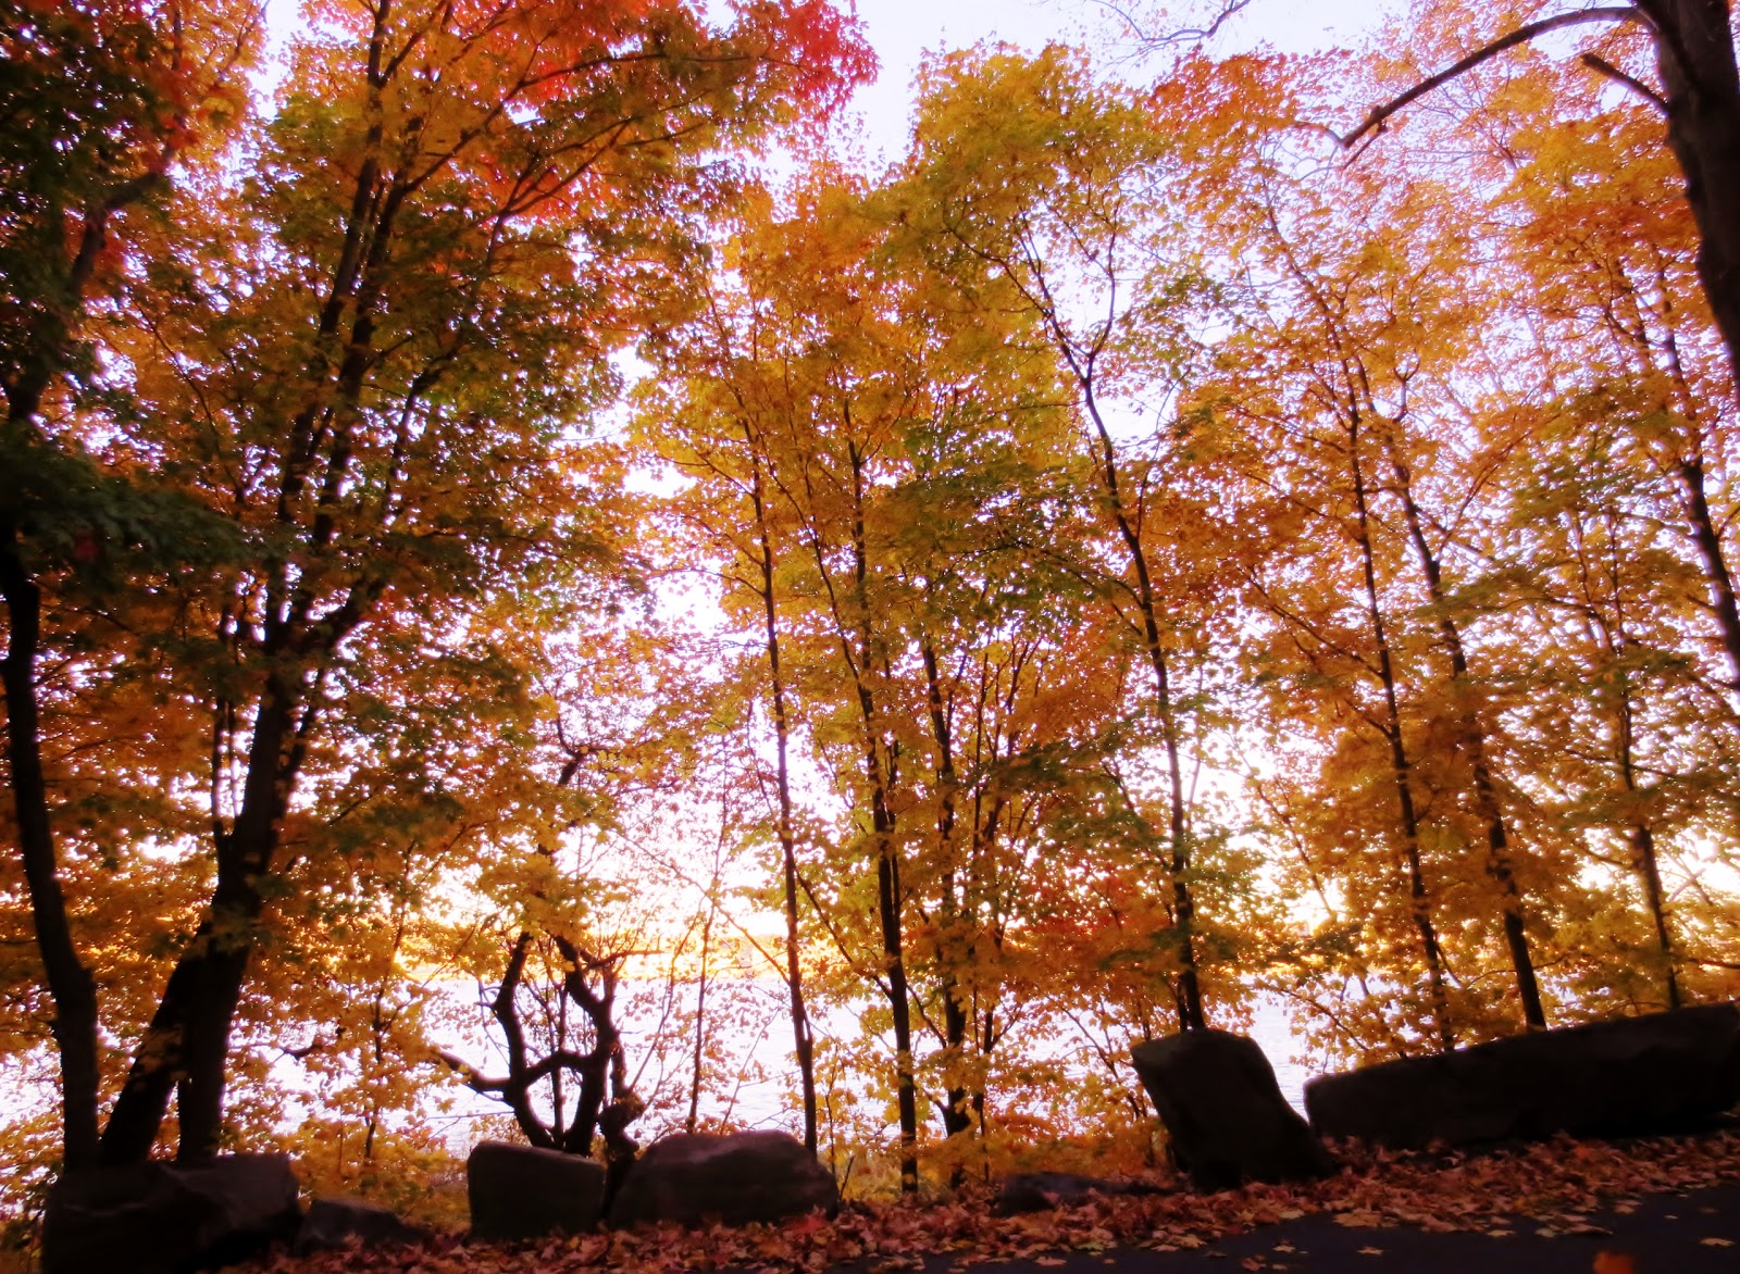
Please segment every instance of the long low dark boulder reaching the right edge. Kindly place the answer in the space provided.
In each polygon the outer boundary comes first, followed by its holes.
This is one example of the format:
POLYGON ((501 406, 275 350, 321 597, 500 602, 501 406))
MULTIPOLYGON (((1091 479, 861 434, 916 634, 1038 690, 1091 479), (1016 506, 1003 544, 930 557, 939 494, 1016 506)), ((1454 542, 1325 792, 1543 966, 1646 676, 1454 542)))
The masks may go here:
POLYGON ((1512 1036, 1305 1084, 1322 1137, 1390 1149, 1691 1131, 1737 1102, 1735 1004, 1512 1036))

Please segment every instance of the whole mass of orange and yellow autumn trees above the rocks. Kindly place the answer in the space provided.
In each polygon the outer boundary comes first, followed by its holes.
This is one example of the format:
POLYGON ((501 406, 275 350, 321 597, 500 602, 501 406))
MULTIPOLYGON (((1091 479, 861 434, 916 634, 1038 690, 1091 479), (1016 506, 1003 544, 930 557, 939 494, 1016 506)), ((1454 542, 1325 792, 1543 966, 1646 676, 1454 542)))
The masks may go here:
POLYGON ((1140 1170, 1162 1032, 1731 997, 1721 59, 1639 0, 1348 153, 1469 9, 940 54, 867 174, 823 0, 318 0, 277 87, 0 0, 9 1204, 757 1084, 849 1192, 1140 1170))

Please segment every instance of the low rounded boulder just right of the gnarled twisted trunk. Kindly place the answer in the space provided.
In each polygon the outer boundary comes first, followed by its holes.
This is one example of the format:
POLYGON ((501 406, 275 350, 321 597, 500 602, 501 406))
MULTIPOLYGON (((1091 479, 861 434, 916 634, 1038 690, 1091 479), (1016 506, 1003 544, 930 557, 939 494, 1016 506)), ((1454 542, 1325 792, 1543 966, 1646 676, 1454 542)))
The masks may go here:
POLYGON ((833 1173, 793 1137, 679 1133, 635 1159, 611 1203, 611 1225, 743 1225, 839 1206, 833 1173))

